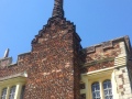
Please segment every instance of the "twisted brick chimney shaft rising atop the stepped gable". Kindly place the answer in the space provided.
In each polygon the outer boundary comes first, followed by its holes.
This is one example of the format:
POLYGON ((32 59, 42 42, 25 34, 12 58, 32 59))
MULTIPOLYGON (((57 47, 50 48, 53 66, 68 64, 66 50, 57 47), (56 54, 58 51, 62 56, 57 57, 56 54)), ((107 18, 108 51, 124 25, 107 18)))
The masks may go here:
POLYGON ((63 0, 55 0, 53 16, 64 18, 63 0))

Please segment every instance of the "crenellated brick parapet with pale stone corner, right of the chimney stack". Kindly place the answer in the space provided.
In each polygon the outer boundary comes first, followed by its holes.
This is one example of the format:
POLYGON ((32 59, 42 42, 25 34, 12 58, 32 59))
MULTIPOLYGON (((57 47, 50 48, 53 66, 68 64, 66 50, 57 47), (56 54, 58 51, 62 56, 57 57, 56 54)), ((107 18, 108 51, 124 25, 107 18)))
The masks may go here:
POLYGON ((107 67, 127 65, 128 45, 127 36, 103 42, 81 51, 82 68, 87 72, 98 70, 107 67))

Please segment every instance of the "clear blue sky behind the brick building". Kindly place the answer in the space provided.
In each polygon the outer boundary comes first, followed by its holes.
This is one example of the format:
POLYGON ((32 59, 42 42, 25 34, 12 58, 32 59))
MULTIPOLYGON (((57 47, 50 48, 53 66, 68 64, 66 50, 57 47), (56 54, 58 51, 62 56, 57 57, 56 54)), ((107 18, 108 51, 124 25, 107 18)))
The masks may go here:
MULTIPOLYGON (((54 0, 0 0, 0 58, 31 51, 31 41, 52 16, 54 0)), ((82 47, 129 35, 132 0, 64 0, 65 18, 74 22, 82 47)))

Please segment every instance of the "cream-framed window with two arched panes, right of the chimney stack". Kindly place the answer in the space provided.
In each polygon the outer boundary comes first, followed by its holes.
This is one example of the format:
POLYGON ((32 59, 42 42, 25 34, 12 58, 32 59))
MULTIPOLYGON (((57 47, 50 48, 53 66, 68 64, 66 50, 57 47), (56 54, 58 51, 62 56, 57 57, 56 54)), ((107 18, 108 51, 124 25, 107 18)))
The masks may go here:
POLYGON ((81 74, 80 95, 82 99, 119 99, 117 81, 113 67, 81 74))

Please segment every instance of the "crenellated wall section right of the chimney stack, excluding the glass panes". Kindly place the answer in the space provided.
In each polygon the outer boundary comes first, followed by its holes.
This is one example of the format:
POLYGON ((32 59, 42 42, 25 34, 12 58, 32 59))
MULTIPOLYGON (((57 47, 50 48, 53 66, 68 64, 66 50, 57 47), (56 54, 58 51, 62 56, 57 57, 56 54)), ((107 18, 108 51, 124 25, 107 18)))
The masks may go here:
POLYGON ((130 64, 131 45, 128 36, 119 37, 81 52, 81 80, 85 85, 80 89, 81 97, 91 99, 88 90, 94 82, 99 82, 100 97, 103 99, 102 84, 110 80, 113 99, 130 99, 132 82, 132 65, 130 64))

